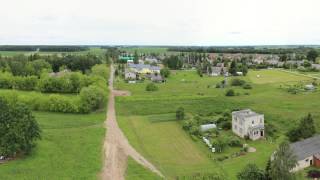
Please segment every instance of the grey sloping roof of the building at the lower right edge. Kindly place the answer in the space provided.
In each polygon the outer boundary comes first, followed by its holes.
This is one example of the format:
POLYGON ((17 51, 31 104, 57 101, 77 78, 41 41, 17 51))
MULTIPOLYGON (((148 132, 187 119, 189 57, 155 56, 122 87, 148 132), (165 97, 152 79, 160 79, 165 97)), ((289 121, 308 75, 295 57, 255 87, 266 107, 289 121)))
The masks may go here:
POLYGON ((290 144, 291 149, 297 156, 297 160, 320 153, 320 135, 290 144))

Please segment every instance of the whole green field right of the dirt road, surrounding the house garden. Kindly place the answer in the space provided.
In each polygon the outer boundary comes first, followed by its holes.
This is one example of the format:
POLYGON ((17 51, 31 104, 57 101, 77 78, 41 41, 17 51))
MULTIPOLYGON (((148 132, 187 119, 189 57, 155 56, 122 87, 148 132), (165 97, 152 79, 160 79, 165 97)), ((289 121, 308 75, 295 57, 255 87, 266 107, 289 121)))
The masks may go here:
POLYGON ((159 90, 155 92, 145 91, 147 82, 126 84, 118 80, 118 89, 132 93, 130 97, 116 99, 119 125, 130 143, 172 179, 210 172, 223 172, 227 179, 235 179, 248 162, 255 162, 264 168, 284 134, 309 112, 319 132, 320 114, 317 107, 320 102, 315 99, 320 98, 320 92, 290 94, 281 88, 288 83, 311 82, 312 78, 279 70, 250 71, 242 79, 252 84, 253 89, 232 87, 239 93, 234 97, 226 97, 225 89, 215 88, 215 84, 222 79, 200 78, 195 71, 176 71, 165 84, 158 84, 159 90), (168 116, 180 106, 190 114, 251 108, 265 115, 266 123, 276 127, 276 135, 272 139, 249 141, 248 144, 257 149, 255 153, 222 162, 214 161, 211 158, 218 155, 210 155, 201 141, 193 141, 180 122, 170 121, 168 116), (157 118, 159 121, 155 120, 157 118))

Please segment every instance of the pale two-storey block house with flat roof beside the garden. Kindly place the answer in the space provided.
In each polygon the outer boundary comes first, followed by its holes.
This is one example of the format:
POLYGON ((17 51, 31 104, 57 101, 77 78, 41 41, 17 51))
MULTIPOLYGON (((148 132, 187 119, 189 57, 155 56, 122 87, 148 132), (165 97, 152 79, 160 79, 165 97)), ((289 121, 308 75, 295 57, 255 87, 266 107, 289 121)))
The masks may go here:
POLYGON ((236 135, 251 140, 257 140, 265 136, 264 115, 245 109, 232 112, 232 131, 236 135))

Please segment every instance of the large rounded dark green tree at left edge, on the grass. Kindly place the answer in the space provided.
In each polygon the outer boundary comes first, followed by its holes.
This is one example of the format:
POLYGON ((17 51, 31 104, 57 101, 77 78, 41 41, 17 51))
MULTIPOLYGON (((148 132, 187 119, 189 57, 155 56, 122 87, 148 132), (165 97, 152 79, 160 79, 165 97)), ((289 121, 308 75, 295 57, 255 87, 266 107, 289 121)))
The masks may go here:
POLYGON ((0 155, 29 153, 39 138, 40 128, 27 106, 0 98, 0 155))

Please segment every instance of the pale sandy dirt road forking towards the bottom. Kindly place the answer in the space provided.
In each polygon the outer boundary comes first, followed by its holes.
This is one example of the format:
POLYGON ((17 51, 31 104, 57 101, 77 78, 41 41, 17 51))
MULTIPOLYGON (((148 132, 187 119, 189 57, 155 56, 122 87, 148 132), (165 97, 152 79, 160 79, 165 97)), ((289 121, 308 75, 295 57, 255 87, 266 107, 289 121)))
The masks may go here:
POLYGON ((113 90, 114 68, 111 65, 109 79, 109 102, 105 127, 107 129, 104 141, 104 166, 101 174, 103 180, 124 180, 127 168, 127 159, 132 157, 139 164, 164 177, 157 168, 139 154, 128 142, 116 120, 115 96, 129 95, 125 91, 113 90))

